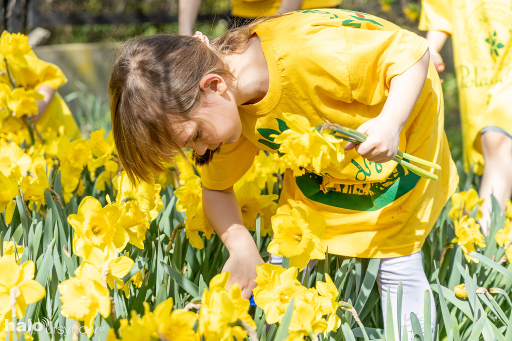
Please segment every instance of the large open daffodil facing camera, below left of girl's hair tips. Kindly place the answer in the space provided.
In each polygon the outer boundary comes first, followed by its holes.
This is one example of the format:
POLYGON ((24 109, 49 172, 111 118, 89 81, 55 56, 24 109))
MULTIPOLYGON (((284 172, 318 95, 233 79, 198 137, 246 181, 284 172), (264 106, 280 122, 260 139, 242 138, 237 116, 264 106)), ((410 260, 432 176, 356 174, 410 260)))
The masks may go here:
POLYGON ((93 197, 85 197, 78 206, 78 213, 68 217, 68 223, 74 228, 73 249, 77 255, 83 255, 84 245, 104 249, 112 243, 120 251, 129 241, 128 233, 119 226, 120 212, 114 205, 101 207, 93 197))

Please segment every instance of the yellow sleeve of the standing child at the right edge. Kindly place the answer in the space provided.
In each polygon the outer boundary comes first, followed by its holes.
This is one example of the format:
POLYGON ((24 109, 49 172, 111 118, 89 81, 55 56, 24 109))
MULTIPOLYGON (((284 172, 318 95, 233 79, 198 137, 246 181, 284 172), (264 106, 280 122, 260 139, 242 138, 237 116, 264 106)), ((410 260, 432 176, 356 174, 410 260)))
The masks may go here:
POLYGON ((422 0, 418 28, 422 31, 437 30, 452 34, 450 2, 447 0, 422 0))

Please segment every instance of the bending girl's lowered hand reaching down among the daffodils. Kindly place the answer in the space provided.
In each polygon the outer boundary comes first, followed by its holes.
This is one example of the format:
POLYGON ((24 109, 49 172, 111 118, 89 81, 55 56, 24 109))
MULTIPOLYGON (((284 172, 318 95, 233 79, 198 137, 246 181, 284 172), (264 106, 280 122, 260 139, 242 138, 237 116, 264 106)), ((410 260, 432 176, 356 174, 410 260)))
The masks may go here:
POLYGON ((263 263, 258 248, 251 240, 251 243, 241 243, 236 249, 229 251, 229 258, 222 268, 222 272, 230 272, 228 286, 238 283, 242 289, 242 298, 249 299, 252 289, 256 287, 256 266, 263 263), (252 245, 251 245, 252 244, 252 245))

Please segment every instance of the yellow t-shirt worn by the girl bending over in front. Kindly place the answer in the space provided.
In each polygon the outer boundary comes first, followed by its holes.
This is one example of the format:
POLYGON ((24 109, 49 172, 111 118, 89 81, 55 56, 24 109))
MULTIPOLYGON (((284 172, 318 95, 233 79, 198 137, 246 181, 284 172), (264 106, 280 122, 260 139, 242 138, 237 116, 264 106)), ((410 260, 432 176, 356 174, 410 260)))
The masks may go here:
MULTIPOLYGON (((312 126, 324 119, 357 129, 376 117, 392 77, 418 61, 428 42, 368 14, 304 10, 267 20, 255 29, 269 69, 269 91, 258 103, 239 106, 242 138, 222 146, 203 167, 203 185, 225 189, 248 169, 259 148, 276 153, 271 134, 287 129, 283 112, 304 115, 312 126)), ((441 165, 438 181, 426 180, 390 161, 376 164, 354 150, 329 169, 285 174, 279 213, 299 205, 321 214, 330 253, 389 258, 418 251, 458 177, 443 131, 443 102, 433 66, 400 136, 400 150, 441 165), (326 193, 323 185, 335 183, 326 193)))

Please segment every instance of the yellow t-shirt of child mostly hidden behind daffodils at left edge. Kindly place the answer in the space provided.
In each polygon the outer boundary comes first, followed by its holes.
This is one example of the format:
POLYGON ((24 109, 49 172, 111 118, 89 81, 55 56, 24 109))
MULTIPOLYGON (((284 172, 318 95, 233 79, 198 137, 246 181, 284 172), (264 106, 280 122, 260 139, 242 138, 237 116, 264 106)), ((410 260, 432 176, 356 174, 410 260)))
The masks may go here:
MULTIPOLYGON (((57 66, 39 59, 33 51, 30 51, 25 58, 27 65, 9 65, 9 71, 18 87, 37 90, 40 86, 47 86, 57 90, 68 81, 57 66)), ((3 68, 5 69, 4 63, 3 68)), ((9 84, 9 86, 11 84, 7 75, 1 76, 0 81, 9 84)), ((62 97, 55 92, 55 96, 49 103, 48 108, 37 122, 36 128, 39 133, 45 133, 47 131, 58 132, 59 126, 61 125, 64 126, 64 134, 66 136, 72 139, 80 138, 78 125, 68 105, 62 97)))

